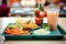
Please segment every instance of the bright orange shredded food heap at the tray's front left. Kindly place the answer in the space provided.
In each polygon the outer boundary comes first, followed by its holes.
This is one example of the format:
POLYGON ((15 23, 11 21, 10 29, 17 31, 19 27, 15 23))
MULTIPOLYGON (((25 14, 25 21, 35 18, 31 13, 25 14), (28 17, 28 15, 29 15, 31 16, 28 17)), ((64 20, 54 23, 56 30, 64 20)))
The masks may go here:
POLYGON ((23 31, 18 26, 14 26, 13 29, 6 29, 6 33, 11 35, 30 35, 29 31, 23 31))

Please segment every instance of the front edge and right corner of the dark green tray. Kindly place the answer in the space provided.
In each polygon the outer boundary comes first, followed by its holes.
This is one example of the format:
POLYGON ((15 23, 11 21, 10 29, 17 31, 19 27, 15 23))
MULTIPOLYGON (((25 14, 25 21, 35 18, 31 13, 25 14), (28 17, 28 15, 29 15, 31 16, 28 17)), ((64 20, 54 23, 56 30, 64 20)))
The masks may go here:
POLYGON ((51 31, 50 35, 9 35, 4 33, 6 40, 63 40, 64 31, 57 25, 56 31, 51 31))

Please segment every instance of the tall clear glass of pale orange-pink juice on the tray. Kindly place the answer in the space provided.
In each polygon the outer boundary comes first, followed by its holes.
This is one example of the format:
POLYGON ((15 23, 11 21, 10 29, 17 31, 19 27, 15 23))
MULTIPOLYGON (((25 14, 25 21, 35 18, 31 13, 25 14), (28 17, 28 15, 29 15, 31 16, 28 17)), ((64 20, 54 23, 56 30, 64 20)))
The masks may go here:
POLYGON ((47 22, 52 26, 52 30, 57 30, 59 9, 48 9, 46 14, 47 22))

